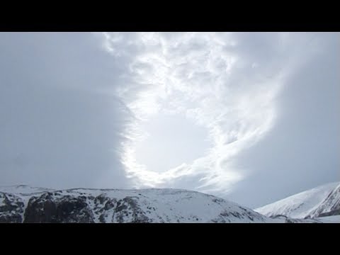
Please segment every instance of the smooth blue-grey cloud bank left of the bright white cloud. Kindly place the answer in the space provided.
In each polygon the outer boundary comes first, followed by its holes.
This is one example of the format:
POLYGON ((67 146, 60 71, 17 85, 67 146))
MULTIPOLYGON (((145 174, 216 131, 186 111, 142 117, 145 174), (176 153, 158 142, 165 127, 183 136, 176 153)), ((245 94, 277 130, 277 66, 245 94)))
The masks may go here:
POLYGON ((0 34, 0 185, 127 188, 129 113, 89 33, 0 34))

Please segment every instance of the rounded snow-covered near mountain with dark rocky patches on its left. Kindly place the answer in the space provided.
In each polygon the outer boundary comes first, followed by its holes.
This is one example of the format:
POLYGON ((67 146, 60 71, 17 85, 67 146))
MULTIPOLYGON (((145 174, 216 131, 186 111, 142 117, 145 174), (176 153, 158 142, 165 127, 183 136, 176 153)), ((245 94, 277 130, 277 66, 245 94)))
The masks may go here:
POLYGON ((0 222, 285 222, 179 189, 0 187, 0 222))

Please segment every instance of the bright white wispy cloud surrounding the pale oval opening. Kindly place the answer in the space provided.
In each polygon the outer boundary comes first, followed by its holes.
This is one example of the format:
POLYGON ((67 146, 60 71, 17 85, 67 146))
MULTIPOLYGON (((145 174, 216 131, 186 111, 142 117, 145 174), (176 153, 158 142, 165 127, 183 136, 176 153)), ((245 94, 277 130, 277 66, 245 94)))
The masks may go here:
POLYGON ((130 83, 118 93, 136 117, 131 140, 125 144, 124 163, 137 186, 181 186, 181 179, 200 176, 191 188, 214 192, 228 191, 242 180, 245 173, 240 174, 231 162, 275 123, 276 96, 291 62, 285 55, 290 37, 103 33, 106 50, 129 63, 125 72, 130 83), (140 127, 154 116, 171 114, 184 115, 206 128, 212 146, 190 164, 161 173, 150 171, 135 160, 135 143, 143 137, 140 127))

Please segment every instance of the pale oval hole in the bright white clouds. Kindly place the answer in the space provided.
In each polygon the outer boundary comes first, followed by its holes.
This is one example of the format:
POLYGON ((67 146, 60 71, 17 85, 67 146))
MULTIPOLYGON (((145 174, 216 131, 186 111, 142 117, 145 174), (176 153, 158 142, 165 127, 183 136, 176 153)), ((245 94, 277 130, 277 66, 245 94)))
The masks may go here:
POLYGON ((203 157, 211 143, 208 130, 183 115, 159 115, 142 124, 148 133, 135 145, 135 157, 149 171, 164 172, 203 157))

